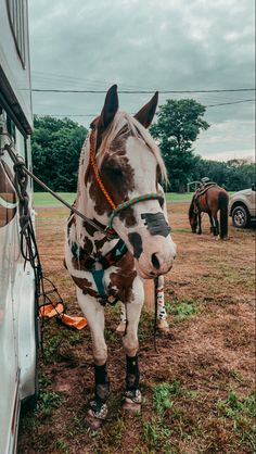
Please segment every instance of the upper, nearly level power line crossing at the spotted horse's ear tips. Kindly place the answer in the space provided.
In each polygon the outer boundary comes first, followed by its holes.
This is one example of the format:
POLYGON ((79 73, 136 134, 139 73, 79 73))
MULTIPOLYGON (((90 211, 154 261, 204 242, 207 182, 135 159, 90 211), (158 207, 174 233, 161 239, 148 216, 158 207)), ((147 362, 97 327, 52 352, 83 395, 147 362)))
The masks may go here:
MULTIPOLYGON (((105 90, 59 90, 47 88, 33 88, 34 92, 43 93, 105 93, 105 90)), ((119 90, 121 94, 152 94, 156 90, 119 90)), ((223 93, 234 91, 255 91, 255 88, 229 88, 229 89, 213 89, 213 90, 158 90, 159 94, 170 93, 223 93)))

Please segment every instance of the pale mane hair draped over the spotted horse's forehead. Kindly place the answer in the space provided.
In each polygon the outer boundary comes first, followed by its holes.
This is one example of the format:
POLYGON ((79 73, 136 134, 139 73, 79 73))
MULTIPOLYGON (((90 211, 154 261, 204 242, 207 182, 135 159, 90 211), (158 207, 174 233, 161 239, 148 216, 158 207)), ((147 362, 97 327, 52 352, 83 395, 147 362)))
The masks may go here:
POLYGON ((156 162, 159 166, 163 182, 167 184, 168 182, 167 171, 166 171, 166 166, 162 157, 159 148, 155 143, 154 139, 151 137, 150 133, 133 116, 125 112, 118 111, 116 113, 106 136, 102 140, 102 143, 100 147, 100 154, 102 151, 102 157, 103 157, 103 151, 110 149, 112 141, 121 131, 121 129, 125 128, 125 126, 128 126, 132 136, 142 138, 144 142, 148 144, 148 147, 154 154, 156 162))

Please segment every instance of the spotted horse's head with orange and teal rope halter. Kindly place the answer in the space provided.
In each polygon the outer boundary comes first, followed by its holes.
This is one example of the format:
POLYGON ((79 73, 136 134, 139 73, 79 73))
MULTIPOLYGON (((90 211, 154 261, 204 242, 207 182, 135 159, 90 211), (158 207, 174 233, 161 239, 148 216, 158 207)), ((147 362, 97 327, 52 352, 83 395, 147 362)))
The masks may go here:
POLYGON ((166 169, 146 130, 157 94, 132 117, 118 111, 117 87, 108 90, 101 115, 92 123, 93 172, 86 176, 94 217, 124 240, 143 278, 167 273, 176 255, 158 186, 159 176, 167 178, 166 169))

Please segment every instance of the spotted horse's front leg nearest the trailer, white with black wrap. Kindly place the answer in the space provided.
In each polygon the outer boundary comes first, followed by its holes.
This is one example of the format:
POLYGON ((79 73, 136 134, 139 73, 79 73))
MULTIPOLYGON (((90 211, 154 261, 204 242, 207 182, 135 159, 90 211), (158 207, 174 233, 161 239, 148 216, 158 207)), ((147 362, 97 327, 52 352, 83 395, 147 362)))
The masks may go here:
POLYGON ((106 418, 106 401, 110 396, 110 381, 106 370, 107 348, 104 339, 104 307, 94 297, 85 295, 77 288, 77 300, 87 318, 94 358, 94 398, 90 402, 87 420, 92 428, 99 428, 106 418))

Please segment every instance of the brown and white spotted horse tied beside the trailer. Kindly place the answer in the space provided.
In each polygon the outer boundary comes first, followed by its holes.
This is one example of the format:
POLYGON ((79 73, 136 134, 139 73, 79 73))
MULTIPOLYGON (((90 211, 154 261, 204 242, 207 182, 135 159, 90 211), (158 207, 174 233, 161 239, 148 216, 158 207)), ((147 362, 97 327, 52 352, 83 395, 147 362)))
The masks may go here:
POLYGON ((176 255, 158 188, 166 169, 145 129, 156 105, 157 92, 135 117, 120 112, 114 85, 81 150, 75 206, 101 230, 73 214, 67 224, 65 263, 92 337, 95 395, 88 412, 92 425, 106 417, 110 395, 104 304, 119 299, 126 305, 125 399, 128 404, 140 404, 137 331, 143 279, 168 273, 176 255), (111 240, 102 231, 107 226, 106 232, 115 231, 111 240))

